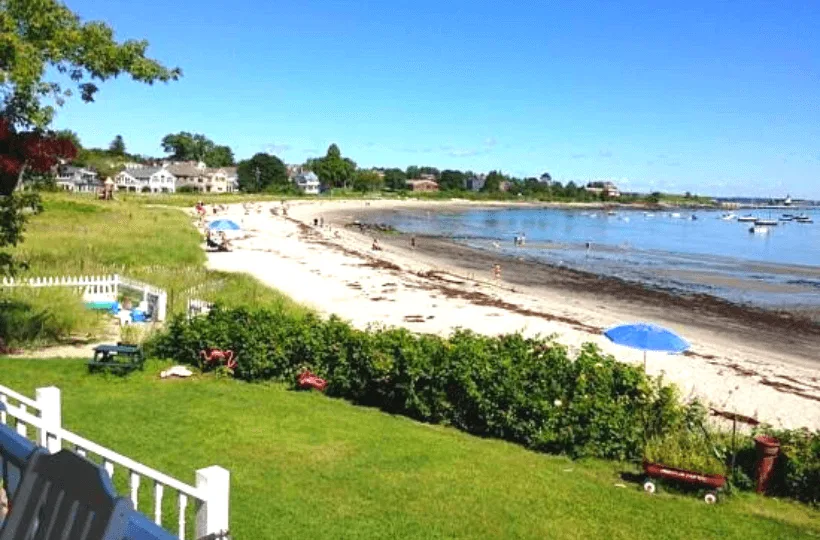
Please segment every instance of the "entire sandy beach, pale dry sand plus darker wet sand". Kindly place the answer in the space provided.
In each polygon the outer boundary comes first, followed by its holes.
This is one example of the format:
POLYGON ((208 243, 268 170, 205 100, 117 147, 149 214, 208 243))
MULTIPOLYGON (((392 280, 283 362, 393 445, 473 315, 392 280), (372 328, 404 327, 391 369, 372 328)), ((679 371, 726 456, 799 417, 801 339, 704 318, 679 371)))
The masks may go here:
POLYGON ((353 325, 401 326, 448 335, 455 328, 494 335, 553 336, 570 351, 594 343, 618 360, 643 364, 643 353, 610 343, 601 332, 650 320, 692 344, 685 355, 650 354, 647 371, 675 382, 723 413, 782 427, 820 429, 820 327, 807 317, 737 306, 707 295, 676 295, 615 278, 475 250, 440 238, 347 227, 374 211, 446 203, 316 201, 227 217, 243 221, 233 253, 209 254, 211 268, 246 272, 320 313, 353 325), (323 218, 325 226, 313 226, 323 218), (372 250, 377 237, 382 247, 372 250), (502 278, 492 266, 502 266, 502 278))

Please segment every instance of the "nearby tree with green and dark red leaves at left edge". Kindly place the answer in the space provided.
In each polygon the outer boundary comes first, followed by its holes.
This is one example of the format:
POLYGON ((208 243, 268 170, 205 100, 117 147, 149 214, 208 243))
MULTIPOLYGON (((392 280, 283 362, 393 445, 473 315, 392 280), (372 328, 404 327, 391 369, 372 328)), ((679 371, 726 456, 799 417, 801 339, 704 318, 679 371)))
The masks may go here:
MULTIPOLYGON (((27 213, 37 212, 36 196, 11 193, 29 168, 72 158, 76 148, 48 131, 56 107, 76 86, 83 101, 94 101, 97 83, 128 74, 152 84, 180 77, 145 54, 148 43, 117 42, 102 22, 84 22, 57 0, 0 0, 0 135, 17 154, 2 153, 0 164, 0 249, 23 238, 27 213), (52 77, 52 75, 54 75, 52 77)), ((7 253, 0 274, 13 271, 7 253)))

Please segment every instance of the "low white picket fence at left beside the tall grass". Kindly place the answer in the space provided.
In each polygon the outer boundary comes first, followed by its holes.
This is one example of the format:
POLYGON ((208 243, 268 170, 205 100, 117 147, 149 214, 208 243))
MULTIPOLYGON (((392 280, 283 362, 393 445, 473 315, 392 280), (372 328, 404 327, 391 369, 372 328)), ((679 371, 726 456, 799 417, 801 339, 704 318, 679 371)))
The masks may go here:
POLYGON ((22 280, 4 277, 0 288, 4 287, 70 287, 77 289, 86 302, 116 302, 120 288, 142 293, 142 300, 153 306, 154 320, 164 321, 168 310, 168 294, 147 283, 129 279, 119 274, 111 276, 82 277, 34 277, 22 280))

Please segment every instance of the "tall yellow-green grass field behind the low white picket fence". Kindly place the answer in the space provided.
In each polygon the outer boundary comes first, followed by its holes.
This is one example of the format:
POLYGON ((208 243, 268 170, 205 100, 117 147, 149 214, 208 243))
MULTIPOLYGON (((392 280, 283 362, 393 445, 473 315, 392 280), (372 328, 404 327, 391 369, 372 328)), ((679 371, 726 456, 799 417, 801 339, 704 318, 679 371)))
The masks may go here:
MULTIPOLYGON (((151 201, 164 204, 171 199, 151 201)), ((184 310, 191 296, 225 305, 267 305, 303 311, 248 275, 206 270, 203 239, 189 217, 179 208, 148 205, 148 200, 140 197, 104 202, 91 197, 46 195, 45 212, 30 221, 24 242, 13 251, 30 265, 21 277, 118 273, 165 289, 172 313, 184 310)), ((173 200, 180 203, 182 199, 173 200)), ((16 300, 20 305, 21 299, 16 300)), ((42 302, 35 300, 30 302, 32 317, 42 311, 42 302)), ((88 317, 80 313, 83 308, 79 300, 74 316, 67 313, 64 302, 60 306, 64 334, 93 331, 88 317)))

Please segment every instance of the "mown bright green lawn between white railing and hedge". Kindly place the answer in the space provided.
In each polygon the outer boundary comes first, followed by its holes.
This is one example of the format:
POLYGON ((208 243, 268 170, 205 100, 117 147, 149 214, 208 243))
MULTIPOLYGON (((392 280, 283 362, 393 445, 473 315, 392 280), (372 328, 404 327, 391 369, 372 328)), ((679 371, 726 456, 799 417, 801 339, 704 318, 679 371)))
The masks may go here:
POLYGON ((0 383, 29 395, 60 387, 68 429, 183 481, 230 469, 240 540, 820 537, 820 512, 796 503, 649 496, 615 486, 629 465, 540 455, 278 385, 162 381, 162 367, 120 379, 89 376, 80 360, 0 359, 0 383))

